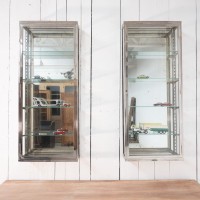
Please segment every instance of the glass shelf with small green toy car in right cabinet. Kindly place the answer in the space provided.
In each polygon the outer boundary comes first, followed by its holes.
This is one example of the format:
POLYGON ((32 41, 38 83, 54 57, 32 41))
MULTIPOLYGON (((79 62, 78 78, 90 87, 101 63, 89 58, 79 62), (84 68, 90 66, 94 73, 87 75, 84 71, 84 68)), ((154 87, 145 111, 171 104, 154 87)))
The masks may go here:
POLYGON ((178 82, 178 78, 146 78, 146 77, 141 77, 141 78, 128 78, 128 82, 166 82, 166 83, 176 83, 178 82))

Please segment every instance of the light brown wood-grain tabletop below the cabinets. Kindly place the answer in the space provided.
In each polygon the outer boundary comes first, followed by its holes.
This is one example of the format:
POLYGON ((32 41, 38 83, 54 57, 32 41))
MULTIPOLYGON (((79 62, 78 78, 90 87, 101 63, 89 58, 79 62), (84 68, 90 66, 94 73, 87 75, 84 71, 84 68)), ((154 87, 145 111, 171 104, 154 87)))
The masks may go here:
POLYGON ((196 181, 6 181, 1 200, 199 200, 196 181))

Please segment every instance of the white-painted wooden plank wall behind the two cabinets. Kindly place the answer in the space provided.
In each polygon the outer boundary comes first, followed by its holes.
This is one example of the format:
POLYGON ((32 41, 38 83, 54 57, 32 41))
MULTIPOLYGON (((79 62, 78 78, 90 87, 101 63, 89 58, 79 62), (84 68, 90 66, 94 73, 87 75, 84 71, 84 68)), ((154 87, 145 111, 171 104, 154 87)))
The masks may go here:
POLYGON ((0 182, 4 180, 196 179, 200 182, 199 0, 1 0, 0 182), (80 27, 80 159, 18 162, 19 21, 80 27), (121 126, 121 27, 182 21, 183 161, 125 161, 121 126))

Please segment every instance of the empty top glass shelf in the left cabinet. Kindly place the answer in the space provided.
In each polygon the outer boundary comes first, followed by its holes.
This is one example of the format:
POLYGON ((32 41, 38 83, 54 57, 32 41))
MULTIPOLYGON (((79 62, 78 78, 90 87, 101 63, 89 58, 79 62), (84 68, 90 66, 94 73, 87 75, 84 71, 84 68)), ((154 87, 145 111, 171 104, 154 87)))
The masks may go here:
POLYGON ((66 59, 74 58, 73 51, 32 51, 26 52, 23 51, 24 56, 35 59, 66 59))

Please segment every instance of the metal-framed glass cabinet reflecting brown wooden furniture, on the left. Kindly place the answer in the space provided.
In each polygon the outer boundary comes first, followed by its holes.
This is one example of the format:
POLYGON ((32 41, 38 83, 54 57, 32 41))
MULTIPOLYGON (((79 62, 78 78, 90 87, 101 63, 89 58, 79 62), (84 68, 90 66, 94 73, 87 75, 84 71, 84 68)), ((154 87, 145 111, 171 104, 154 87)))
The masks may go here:
POLYGON ((77 161, 77 22, 20 22, 19 160, 77 161))

